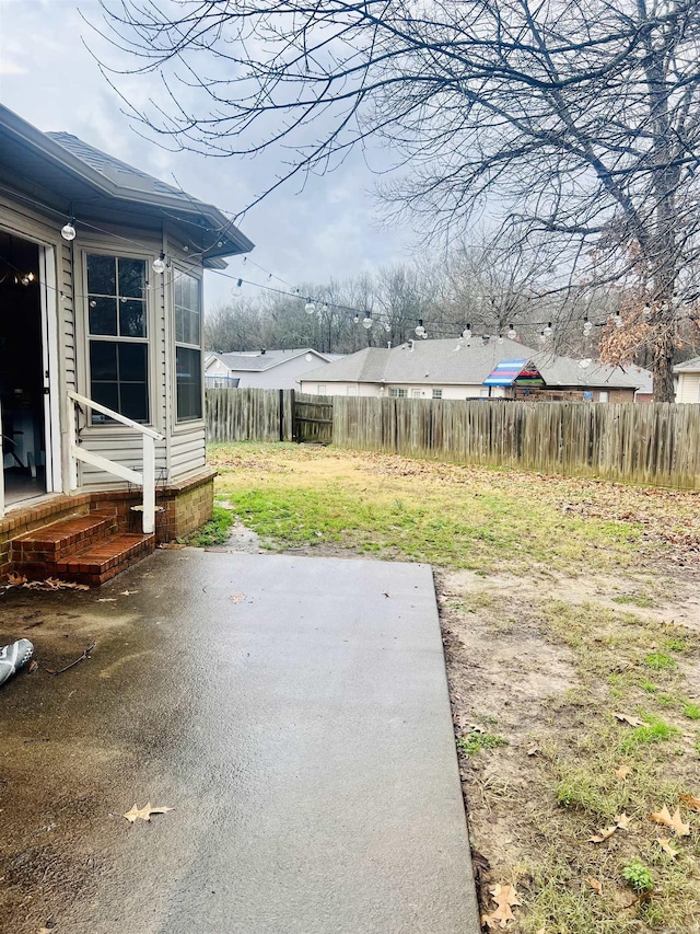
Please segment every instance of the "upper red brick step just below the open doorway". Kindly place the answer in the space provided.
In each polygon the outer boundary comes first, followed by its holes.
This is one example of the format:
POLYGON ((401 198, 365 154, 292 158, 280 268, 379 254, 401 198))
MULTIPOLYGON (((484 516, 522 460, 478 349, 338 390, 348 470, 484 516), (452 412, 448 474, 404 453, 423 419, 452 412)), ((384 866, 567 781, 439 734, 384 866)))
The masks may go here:
POLYGON ((104 541, 116 531, 116 518, 100 512, 71 516, 26 532, 12 542, 12 561, 18 569, 28 572, 34 566, 55 564, 89 544, 104 541))

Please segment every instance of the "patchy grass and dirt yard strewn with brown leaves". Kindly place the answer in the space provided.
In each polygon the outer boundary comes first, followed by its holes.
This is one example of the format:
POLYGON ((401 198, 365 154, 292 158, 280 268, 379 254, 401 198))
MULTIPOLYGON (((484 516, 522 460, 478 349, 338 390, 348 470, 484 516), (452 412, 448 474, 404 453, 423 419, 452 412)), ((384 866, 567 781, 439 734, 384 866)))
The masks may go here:
POLYGON ((698 494, 289 445, 211 459, 223 549, 432 563, 486 931, 700 931, 698 494))

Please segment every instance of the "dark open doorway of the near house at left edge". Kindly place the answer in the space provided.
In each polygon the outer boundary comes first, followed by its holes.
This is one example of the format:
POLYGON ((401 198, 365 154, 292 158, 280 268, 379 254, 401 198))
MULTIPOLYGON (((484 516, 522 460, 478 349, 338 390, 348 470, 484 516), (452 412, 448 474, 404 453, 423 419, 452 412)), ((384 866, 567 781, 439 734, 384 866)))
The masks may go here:
POLYGON ((5 506, 46 493, 39 247, 0 232, 0 410, 5 506))

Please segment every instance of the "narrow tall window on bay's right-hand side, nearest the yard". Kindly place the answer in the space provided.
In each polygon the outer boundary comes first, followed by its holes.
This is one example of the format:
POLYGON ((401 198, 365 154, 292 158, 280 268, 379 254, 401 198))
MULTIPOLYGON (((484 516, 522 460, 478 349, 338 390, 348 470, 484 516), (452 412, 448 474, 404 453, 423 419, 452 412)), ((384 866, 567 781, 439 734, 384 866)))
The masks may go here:
POLYGON ((175 272, 177 420, 201 418, 201 282, 175 272))

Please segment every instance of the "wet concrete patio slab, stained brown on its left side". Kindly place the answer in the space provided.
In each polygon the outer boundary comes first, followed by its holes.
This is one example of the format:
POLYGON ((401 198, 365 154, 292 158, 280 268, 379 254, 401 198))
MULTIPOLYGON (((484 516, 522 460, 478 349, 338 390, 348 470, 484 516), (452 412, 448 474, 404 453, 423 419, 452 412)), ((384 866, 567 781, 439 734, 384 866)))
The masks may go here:
POLYGON ((161 551, 9 591, 20 636, 40 667, 0 689, 1 931, 479 930, 427 565, 161 551), (125 820, 148 802, 173 810, 125 820))

